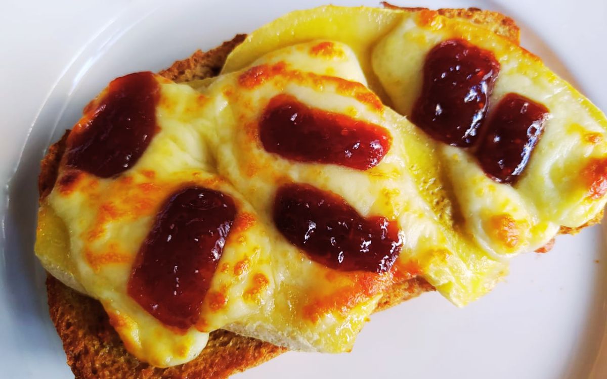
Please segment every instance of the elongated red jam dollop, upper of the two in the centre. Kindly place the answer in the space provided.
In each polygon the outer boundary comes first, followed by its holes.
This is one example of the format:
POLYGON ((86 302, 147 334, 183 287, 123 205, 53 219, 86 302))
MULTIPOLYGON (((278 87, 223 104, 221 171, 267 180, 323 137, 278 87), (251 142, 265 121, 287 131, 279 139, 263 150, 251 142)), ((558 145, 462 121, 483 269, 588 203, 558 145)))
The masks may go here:
POLYGON ((290 95, 270 100, 259 129, 270 153, 357 170, 377 166, 392 144, 390 133, 379 125, 308 107, 290 95))

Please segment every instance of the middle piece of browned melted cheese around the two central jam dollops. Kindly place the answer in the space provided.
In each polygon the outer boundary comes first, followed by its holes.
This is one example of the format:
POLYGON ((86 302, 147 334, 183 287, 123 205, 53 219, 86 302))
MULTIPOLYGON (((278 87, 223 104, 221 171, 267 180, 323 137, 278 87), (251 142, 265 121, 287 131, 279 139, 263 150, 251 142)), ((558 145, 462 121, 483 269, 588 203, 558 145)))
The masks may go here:
MULTIPOLYGON (((404 207, 416 209, 419 212, 416 221, 427 224, 428 229, 433 226, 407 175, 400 143, 393 144, 378 166, 364 172, 289 161, 261 146, 257 122, 266 104, 279 93, 288 93, 317 109, 379 124, 398 138, 396 124, 406 121, 385 109, 363 84, 323 75, 327 67, 334 67, 332 72, 364 79, 352 58, 344 65, 336 65, 331 57, 310 54, 317 46, 327 45, 332 52, 347 52, 339 53, 339 57, 353 57, 345 45, 333 42, 287 47, 259 59, 243 72, 226 75, 208 92, 222 93, 222 100, 218 101, 222 101, 222 112, 228 113, 231 121, 223 122, 218 129, 217 169, 265 218, 273 241, 271 255, 276 278, 273 312, 253 315, 228 329, 250 335, 247 325, 253 324, 257 325, 254 335, 262 334, 273 343, 281 343, 286 336, 296 349, 341 352, 351 348, 381 290, 390 284, 392 274, 336 272, 306 258, 273 227, 271 215, 277 187, 282 183, 308 183, 338 193, 364 216, 384 215, 399 220, 404 235, 409 234, 407 224, 402 224, 404 218, 401 220, 404 207), (302 59, 296 53, 297 63, 291 64, 293 52, 299 51, 308 52, 308 58, 302 59)), ((415 241, 416 238, 410 239, 410 244, 415 241)))

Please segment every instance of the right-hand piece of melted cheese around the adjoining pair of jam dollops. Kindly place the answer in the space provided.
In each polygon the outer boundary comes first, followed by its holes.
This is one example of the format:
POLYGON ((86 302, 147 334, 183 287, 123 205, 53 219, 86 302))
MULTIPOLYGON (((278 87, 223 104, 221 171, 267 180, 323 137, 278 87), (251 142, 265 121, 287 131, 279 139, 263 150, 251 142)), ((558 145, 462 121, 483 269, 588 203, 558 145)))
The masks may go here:
POLYGON ((548 243, 560 226, 580 226, 594 218, 605 201, 589 198, 583 176, 585 167, 607 152, 605 116, 539 58, 509 39, 432 12, 407 16, 372 55, 373 69, 395 109, 411 114, 421 92, 426 54, 453 38, 489 50, 500 62, 490 105, 514 92, 544 104, 551 112, 540 143, 514 187, 495 183, 467 150, 438 144, 441 153, 436 161, 447 166, 452 196, 476 242, 497 255, 512 255, 548 243))

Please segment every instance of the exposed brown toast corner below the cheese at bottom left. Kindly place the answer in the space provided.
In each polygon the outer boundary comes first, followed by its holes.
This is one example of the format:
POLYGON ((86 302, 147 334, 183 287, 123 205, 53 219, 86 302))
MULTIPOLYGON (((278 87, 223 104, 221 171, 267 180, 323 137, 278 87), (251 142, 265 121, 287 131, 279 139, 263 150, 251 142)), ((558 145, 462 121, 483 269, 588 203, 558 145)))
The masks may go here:
POLYGON ((127 353, 101 304, 47 278, 50 317, 76 378, 226 378, 286 349, 226 330, 211 333, 194 360, 160 369, 127 353))

